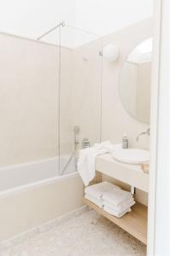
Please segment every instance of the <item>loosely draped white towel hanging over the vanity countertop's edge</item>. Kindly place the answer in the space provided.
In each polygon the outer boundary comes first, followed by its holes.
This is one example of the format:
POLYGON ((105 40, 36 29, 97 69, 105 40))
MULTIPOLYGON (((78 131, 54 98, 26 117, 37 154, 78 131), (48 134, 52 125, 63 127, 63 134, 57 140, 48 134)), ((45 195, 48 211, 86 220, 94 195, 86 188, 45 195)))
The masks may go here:
POLYGON ((112 153, 122 148, 121 144, 113 145, 110 142, 94 144, 92 148, 84 148, 80 151, 77 170, 82 177, 85 186, 95 177, 95 158, 99 154, 112 153))

